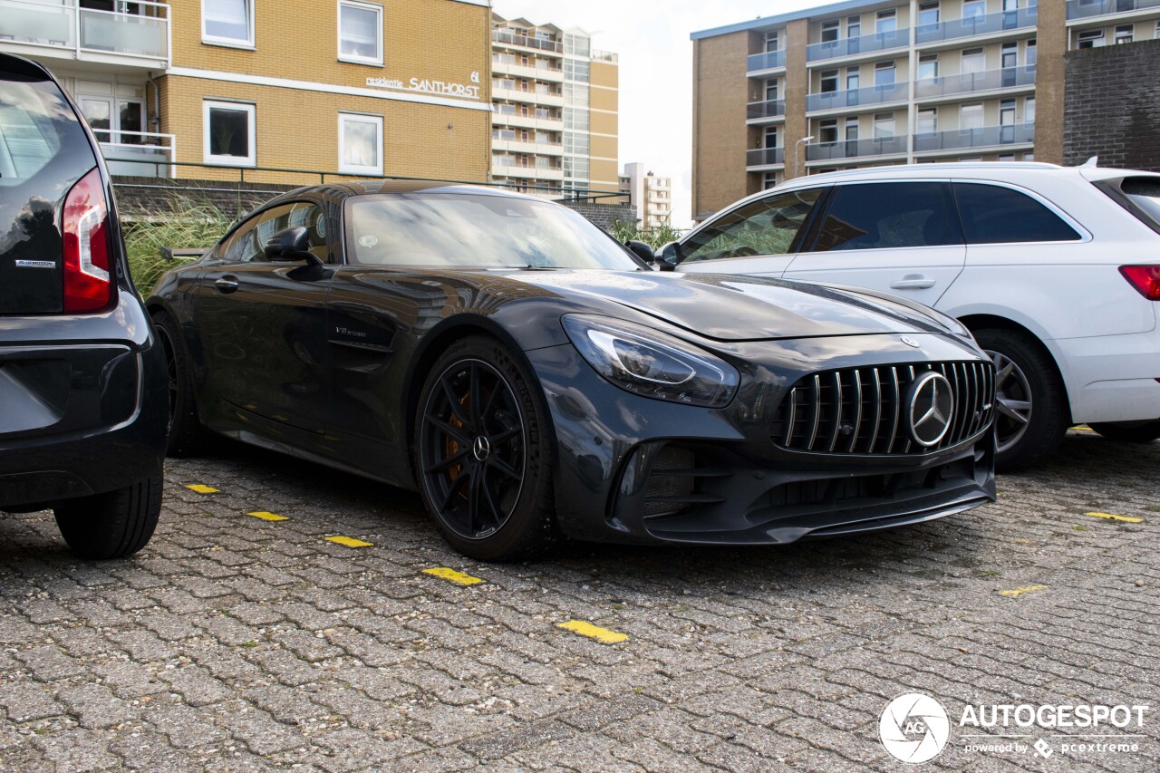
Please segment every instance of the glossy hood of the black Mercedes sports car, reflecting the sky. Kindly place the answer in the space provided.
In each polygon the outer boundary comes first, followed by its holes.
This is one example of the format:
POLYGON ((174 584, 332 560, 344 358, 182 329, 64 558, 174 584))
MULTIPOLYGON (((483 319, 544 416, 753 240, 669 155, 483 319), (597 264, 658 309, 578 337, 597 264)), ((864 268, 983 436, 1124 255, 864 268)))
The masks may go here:
POLYGON ((612 301, 718 341, 951 332, 923 306, 854 288, 668 272, 524 270, 519 279, 612 301))

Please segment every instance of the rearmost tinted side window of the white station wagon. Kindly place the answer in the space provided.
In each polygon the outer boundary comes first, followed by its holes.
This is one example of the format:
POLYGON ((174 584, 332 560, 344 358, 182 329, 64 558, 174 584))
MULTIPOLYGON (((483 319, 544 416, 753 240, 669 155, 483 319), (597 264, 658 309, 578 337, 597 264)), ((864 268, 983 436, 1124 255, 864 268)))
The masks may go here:
POLYGON ((955 198, 967 244, 1076 241, 1083 238, 1050 209, 1010 188, 956 182, 955 198))

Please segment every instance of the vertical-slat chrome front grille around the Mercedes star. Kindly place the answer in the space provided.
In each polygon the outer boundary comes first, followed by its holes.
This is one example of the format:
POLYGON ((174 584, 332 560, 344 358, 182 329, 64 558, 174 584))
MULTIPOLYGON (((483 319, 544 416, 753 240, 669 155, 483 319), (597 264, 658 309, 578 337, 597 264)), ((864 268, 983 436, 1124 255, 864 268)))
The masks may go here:
POLYGON ((995 377, 989 362, 920 362, 826 370, 798 381, 777 407, 774 445, 821 454, 925 454, 956 446, 989 426, 995 377), (955 407, 947 434, 911 440, 907 392, 923 373, 941 373, 955 407))

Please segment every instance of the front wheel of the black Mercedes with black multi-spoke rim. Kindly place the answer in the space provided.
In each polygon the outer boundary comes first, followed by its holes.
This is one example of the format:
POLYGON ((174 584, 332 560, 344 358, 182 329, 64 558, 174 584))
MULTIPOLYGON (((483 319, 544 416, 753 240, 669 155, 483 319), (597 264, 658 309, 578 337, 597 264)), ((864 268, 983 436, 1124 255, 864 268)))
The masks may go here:
POLYGON ((448 543, 479 561, 541 556, 561 541, 544 398, 499 341, 457 341, 432 368, 415 414, 414 468, 448 543))

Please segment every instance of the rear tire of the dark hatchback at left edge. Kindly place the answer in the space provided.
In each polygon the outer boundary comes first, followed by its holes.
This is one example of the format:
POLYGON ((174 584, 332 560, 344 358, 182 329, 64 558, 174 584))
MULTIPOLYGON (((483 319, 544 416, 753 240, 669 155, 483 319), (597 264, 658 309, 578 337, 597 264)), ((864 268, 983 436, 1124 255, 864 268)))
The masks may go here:
POLYGON ((123 558, 148 542, 161 512, 161 476, 131 486, 61 503, 60 535, 81 558, 123 558))

